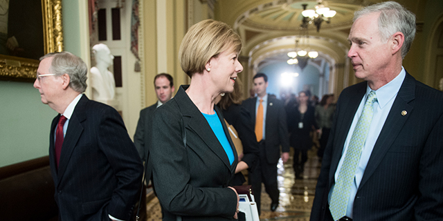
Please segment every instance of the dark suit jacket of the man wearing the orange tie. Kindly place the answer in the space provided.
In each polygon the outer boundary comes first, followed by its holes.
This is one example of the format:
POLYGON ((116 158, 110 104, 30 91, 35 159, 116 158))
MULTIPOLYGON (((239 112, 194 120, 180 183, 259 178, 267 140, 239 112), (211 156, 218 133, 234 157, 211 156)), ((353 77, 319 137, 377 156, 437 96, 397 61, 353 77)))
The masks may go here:
MULTIPOLYGON (((251 114, 251 120, 255 128, 255 104, 257 97, 251 97, 242 103, 242 106, 251 114)), ((265 151, 266 160, 269 164, 277 164, 280 159, 280 145, 282 152, 289 152, 289 137, 286 122, 284 104, 279 99, 268 95, 266 108, 266 133, 265 151)))

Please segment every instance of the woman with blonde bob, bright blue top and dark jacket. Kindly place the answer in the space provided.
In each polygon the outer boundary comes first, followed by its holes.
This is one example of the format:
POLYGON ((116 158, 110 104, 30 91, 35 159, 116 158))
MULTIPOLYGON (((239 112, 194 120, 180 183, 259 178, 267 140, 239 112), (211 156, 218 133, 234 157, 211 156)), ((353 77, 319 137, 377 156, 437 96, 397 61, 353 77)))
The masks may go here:
POLYGON ((163 220, 234 220, 239 197, 228 186, 237 151, 215 98, 234 90, 242 41, 226 23, 204 20, 181 42, 191 77, 152 117, 149 162, 163 220))

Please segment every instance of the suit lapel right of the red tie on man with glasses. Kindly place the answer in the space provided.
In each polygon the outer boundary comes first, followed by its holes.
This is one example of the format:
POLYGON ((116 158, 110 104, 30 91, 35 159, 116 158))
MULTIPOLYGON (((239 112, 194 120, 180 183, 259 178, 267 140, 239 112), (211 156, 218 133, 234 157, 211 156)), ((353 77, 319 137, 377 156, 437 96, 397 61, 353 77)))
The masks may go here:
POLYGON ((81 123, 86 119, 84 108, 88 101, 89 99, 86 97, 86 95, 83 95, 78 104, 75 106, 71 119, 69 119, 66 135, 64 136, 62 153, 60 153, 60 163, 57 174, 58 182, 62 180, 75 145, 77 144, 80 135, 83 133, 83 126, 81 123))

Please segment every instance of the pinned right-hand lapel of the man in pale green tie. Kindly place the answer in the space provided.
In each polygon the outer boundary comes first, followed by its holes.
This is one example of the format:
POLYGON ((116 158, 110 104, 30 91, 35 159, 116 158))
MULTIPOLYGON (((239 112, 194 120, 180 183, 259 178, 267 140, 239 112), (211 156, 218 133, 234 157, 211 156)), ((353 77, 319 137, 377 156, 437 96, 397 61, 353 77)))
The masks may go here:
POLYGON ((395 98, 394 104, 392 104, 392 108, 390 108, 386 122, 383 128, 381 128, 379 138, 374 145, 359 189, 368 181, 372 173, 377 169, 377 166, 379 166, 381 160, 383 160, 390 146, 392 146, 397 139, 401 128, 409 117, 409 115, 401 115, 401 111, 411 113, 413 106, 408 103, 413 99, 415 99, 415 79, 406 73, 404 82, 395 98))

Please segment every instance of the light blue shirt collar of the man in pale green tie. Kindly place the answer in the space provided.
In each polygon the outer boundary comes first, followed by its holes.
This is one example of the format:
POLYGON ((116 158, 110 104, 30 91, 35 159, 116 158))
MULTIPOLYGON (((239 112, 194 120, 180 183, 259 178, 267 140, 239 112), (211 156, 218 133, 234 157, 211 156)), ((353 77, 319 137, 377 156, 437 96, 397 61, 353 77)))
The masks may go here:
MULTIPOLYGON (((393 99, 400 90, 401 84, 403 84, 404 78, 406 77, 406 71, 403 66, 401 66, 401 71, 397 77, 389 81, 388 84, 385 84, 378 90, 374 90, 375 95, 377 95, 377 102, 379 103, 380 108, 383 108, 388 102, 393 99)), ((366 86, 366 96, 369 95, 372 89, 366 86)))

